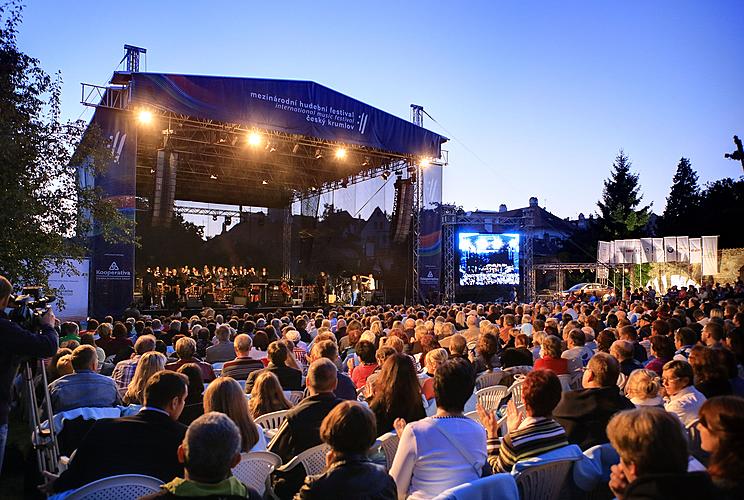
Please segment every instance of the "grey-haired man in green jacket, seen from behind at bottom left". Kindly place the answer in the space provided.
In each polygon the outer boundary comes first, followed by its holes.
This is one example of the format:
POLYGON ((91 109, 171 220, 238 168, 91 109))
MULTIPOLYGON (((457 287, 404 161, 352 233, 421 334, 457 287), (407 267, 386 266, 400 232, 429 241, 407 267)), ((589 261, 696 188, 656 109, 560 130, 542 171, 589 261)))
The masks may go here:
POLYGON ((141 500, 160 498, 248 498, 259 500, 256 490, 241 483, 231 469, 240 462, 240 432, 225 415, 207 413, 197 418, 178 447, 184 477, 163 484, 159 493, 141 500))

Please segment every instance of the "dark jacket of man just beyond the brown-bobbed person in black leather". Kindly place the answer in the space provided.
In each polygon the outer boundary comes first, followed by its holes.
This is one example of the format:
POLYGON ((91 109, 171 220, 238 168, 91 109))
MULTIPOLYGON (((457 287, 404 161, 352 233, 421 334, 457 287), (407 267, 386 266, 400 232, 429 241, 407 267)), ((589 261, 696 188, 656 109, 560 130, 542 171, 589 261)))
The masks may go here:
POLYGON ((300 401, 287 413, 287 420, 279 427, 269 451, 286 464, 295 455, 319 445, 320 424, 341 401, 333 393, 316 394, 300 401))

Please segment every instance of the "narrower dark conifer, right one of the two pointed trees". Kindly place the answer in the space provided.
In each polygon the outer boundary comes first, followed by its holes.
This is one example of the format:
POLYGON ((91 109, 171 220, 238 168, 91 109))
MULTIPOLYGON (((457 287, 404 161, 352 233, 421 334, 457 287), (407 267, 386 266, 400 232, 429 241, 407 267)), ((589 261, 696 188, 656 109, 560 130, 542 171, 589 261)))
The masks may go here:
POLYGON ((662 235, 691 234, 696 232, 700 208, 698 176, 690 160, 681 158, 672 178, 672 188, 667 196, 664 214, 658 224, 662 235))

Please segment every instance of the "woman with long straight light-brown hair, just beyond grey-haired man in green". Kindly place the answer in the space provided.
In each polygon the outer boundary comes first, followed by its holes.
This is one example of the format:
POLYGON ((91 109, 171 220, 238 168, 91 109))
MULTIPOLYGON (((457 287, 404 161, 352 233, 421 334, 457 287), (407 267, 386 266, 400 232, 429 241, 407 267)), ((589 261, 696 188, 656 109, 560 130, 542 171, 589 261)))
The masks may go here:
POLYGON ((218 377, 204 391, 204 413, 218 411, 235 422, 240 429, 241 451, 266 451, 263 430, 256 425, 248 411, 248 401, 237 380, 218 377))

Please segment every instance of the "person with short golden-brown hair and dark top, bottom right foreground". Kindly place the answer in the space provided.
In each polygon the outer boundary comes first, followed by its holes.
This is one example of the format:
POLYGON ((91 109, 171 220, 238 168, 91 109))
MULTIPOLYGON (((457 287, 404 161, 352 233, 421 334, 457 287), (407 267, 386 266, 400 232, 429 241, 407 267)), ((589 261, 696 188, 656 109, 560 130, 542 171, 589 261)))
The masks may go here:
POLYGON ((619 412, 607 435, 620 455, 609 484, 618 500, 718 498, 705 472, 687 471, 684 429, 661 408, 619 412))

